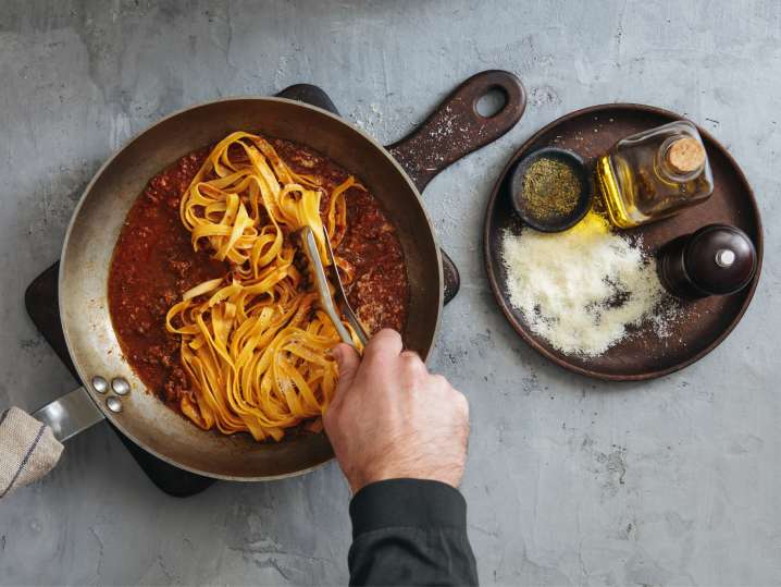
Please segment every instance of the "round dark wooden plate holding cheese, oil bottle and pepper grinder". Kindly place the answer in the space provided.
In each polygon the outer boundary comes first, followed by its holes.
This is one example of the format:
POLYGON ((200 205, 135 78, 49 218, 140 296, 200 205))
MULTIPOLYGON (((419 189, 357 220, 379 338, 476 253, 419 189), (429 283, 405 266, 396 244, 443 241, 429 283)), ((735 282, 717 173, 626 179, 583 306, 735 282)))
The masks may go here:
MULTIPOLYGON (((567 355, 531 331, 526 320, 509 301, 507 273, 501 262, 501 235, 518 233, 521 223, 512 211, 508 182, 512 166, 524 155, 542 147, 572 149, 594 168, 596 157, 618 139, 681 120, 679 114, 650 106, 610 103, 567 114, 537 132, 510 158, 488 200, 484 227, 484 254, 488 281, 496 301, 512 327, 530 345, 565 369, 597 379, 639 381, 682 369, 716 348, 741 320, 756 290, 763 260, 763 231, 754 193, 732 156, 710 134, 699 129, 714 173, 715 189, 704 204, 645 227, 628 231, 642 234, 643 244, 656 252, 671 239, 694 232, 704 224, 722 222, 748 234, 757 248, 757 272, 742 292, 683 303, 681 318, 669 325, 660 338, 650 326, 636 332, 597 357, 567 355)), ((595 194, 598 198, 598 192, 595 194)))

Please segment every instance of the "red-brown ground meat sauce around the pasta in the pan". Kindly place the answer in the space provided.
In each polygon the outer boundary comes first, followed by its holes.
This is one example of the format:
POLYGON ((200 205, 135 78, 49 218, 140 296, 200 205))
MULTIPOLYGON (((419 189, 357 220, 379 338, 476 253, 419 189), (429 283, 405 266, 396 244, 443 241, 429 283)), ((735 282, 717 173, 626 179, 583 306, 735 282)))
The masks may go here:
MULTIPOLYGON (((302 145, 272 139, 294 171, 314 175, 327 193, 348 173, 302 145)), ((165 330, 165 314, 182 294, 202 281, 225 276, 227 264, 194 250, 182 225, 179 198, 209 148, 194 151, 154 176, 125 219, 109 273, 109 307, 120 344, 133 369, 172 407, 191 384, 179 360, 179 341, 165 330)), ((404 253, 394 227, 376 200, 351 187, 345 194, 347 232, 337 254, 355 267, 350 305, 362 323, 402 330, 409 306, 404 253)), ((327 198, 321 211, 327 209, 327 198)))

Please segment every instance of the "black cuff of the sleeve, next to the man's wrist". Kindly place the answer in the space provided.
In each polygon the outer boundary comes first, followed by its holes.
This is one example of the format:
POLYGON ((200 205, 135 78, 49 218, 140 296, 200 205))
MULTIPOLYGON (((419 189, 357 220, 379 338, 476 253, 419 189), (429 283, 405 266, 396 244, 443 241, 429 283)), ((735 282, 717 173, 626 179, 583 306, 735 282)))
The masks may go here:
POLYGON ((388 479, 365 486, 350 502, 352 538, 381 528, 466 528, 467 502, 447 484, 388 479))

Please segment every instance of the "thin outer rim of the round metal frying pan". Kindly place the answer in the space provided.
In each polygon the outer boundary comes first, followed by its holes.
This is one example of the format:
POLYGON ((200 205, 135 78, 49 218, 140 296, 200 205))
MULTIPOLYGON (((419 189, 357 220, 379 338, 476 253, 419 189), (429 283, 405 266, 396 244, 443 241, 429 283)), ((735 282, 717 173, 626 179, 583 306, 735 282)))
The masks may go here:
MULTIPOLYGON (((436 320, 434 325, 434 330, 431 334, 431 343, 429 345, 429 348, 426 350, 425 356, 423 356, 423 359, 427 359, 429 355, 431 354, 431 351, 433 350, 434 345, 436 344, 436 338, 439 333, 439 328, 442 325, 442 314, 443 314, 443 307, 444 307, 444 274, 442 269, 442 253, 441 253, 441 244, 439 244, 439 237, 434 230, 434 223, 432 222, 432 219, 429 215, 429 211, 426 210, 425 206, 423 205, 423 198, 418 191, 418 187, 414 185, 412 180, 410 179, 409 174, 405 171, 405 169, 400 166, 398 161, 388 152, 388 150, 381 145, 375 138, 373 138, 371 135, 365 133, 363 130, 357 127, 356 125, 351 124, 349 121, 337 117, 336 114, 333 114, 332 112, 328 112, 327 110, 324 110, 322 108, 319 108, 317 106, 312 106, 306 102, 301 102, 298 100, 292 100, 288 98, 281 98, 276 96, 231 96, 225 98, 220 98, 218 100, 207 100, 202 102, 198 102, 195 105, 190 105, 184 108, 181 108, 148 125, 146 125, 142 130, 134 134, 132 137, 129 137, 119 149, 116 149, 111 156, 103 162, 103 164, 100 166, 100 168, 95 172, 92 175, 92 179, 89 181, 89 183, 85 186, 84 192, 82 192, 82 195, 78 198, 78 201, 76 203, 76 206, 73 209, 71 219, 67 223, 67 229, 65 230, 65 237, 63 240, 61 255, 60 255, 60 268, 58 271, 58 304, 60 308, 63 306, 63 299, 64 299, 64 288, 62 286, 64 274, 65 274, 65 267, 67 265, 66 262, 66 255, 69 249, 69 243, 71 241, 71 235, 74 230, 74 225, 76 223, 76 219, 78 218, 82 208, 84 207, 85 201, 88 199, 89 194, 92 191, 92 187, 98 182, 98 180, 103 175, 107 169, 116 160, 116 158, 124 152, 131 145, 133 145, 136 140, 138 140, 141 136, 144 136, 146 133, 150 132, 152 129, 157 127, 158 125, 174 119, 176 117, 179 117, 182 114, 188 113, 193 110, 197 110, 199 108, 206 108, 211 106, 219 106, 227 102, 234 102, 234 101, 259 101, 259 102, 281 102, 281 103, 287 103, 289 106, 293 106, 295 108, 302 108, 308 109, 318 112, 321 115, 325 115, 333 121, 337 122, 338 124, 346 126, 350 131, 357 133, 363 140, 367 140, 369 144, 371 144, 373 147, 376 147, 377 151, 382 154, 385 159, 393 166, 393 168, 400 174, 401 179, 405 181, 409 189, 414 194, 414 196, 418 199, 419 208, 423 213, 423 217, 425 218, 425 221, 429 224, 430 233, 432 235, 433 245, 435 248, 436 254, 436 277, 437 277, 437 315, 436 320)), ((195 148, 198 148, 197 146, 195 148)), ((286 479, 290 477, 298 477, 300 475, 305 475, 307 473, 310 473, 317 468, 322 467, 326 463, 334 460, 334 455, 332 454, 331 457, 320 462, 315 463, 314 465, 310 467, 306 467, 303 469, 285 473, 282 475, 259 475, 259 476, 234 476, 234 475, 224 475, 220 473, 213 473, 209 470, 203 470, 197 467, 190 467, 188 465, 185 465, 183 463, 179 463, 171 457, 169 457, 165 454, 162 454, 161 452, 148 447, 144 441, 141 441, 139 438, 137 438, 135 435, 129 432, 127 428, 123 425, 122 418, 117 418, 111 411, 106 408, 102 403, 97 402, 92 395, 91 390, 89 389, 89 386, 87 383, 88 381, 88 374, 83 368, 80 362, 78 360, 77 354, 74 352, 74 343, 71 340, 71 333, 69 332, 69 328, 65 323, 65 314, 60 313, 60 325, 62 327, 62 331, 65 339, 65 345, 67 347, 69 355, 71 356, 71 359, 73 360, 74 366, 76 367, 76 371, 78 372, 78 377, 80 379, 82 384, 87 389, 88 395, 90 398, 90 401, 92 401, 98 408, 101 411, 106 419, 108 419, 113 426, 115 426, 125 437, 131 439, 134 443, 136 443, 138 447, 144 449, 145 451, 149 452, 150 454, 154 455, 156 457, 160 458, 161 461, 164 461, 165 463, 173 465, 177 468, 187 470, 189 473, 194 473, 196 475, 200 475, 203 477, 209 477, 212 479, 221 479, 221 480, 227 480, 227 481, 241 481, 241 482, 256 482, 256 481, 274 481, 280 479, 286 479)), ((112 325, 113 329, 113 325, 112 325)), ((124 360, 124 354, 123 360, 124 360)), ((146 390, 145 390, 146 393, 146 390)), ((162 405, 162 404, 161 404, 162 405)), ((164 406, 163 406, 164 407, 164 406)))

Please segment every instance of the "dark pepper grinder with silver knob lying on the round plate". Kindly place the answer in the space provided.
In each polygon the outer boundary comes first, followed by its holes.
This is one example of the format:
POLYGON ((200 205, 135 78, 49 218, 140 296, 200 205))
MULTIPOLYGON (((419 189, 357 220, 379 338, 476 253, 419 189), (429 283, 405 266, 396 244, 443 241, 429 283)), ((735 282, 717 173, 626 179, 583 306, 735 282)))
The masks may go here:
POLYGON ((729 295, 751 283, 757 252, 742 230, 708 224, 662 246, 657 267, 661 284, 677 297, 729 295))

